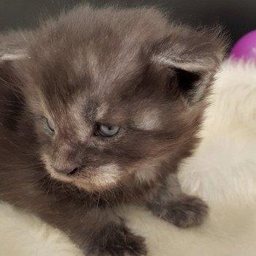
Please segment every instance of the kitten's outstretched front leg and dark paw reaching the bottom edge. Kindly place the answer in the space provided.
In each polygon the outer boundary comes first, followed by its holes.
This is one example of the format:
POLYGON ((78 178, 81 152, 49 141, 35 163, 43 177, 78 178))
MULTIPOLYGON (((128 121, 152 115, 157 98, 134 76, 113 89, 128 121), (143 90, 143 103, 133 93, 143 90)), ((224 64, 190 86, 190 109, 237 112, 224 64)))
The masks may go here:
POLYGON ((53 211, 36 213, 67 233, 86 256, 146 255, 144 239, 133 234, 113 209, 69 202, 56 201, 53 211))

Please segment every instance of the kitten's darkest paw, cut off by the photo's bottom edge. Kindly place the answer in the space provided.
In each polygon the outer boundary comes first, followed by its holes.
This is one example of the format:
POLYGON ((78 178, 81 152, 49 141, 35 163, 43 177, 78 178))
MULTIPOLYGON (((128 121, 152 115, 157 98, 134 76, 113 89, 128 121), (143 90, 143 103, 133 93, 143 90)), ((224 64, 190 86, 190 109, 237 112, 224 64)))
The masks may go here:
POLYGON ((106 227, 94 241, 94 256, 146 255, 144 238, 134 235, 125 225, 106 227))

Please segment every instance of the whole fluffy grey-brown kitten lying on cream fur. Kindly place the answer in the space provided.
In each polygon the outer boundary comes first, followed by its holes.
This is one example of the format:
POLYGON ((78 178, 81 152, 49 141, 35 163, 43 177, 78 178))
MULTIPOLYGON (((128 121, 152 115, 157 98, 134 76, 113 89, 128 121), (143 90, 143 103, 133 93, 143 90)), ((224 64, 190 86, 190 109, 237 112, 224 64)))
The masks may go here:
POLYGON ((85 255, 146 255, 115 207, 178 227, 208 207, 176 170, 197 144, 225 43, 154 8, 75 7, 1 35, 0 198, 63 230, 85 255))

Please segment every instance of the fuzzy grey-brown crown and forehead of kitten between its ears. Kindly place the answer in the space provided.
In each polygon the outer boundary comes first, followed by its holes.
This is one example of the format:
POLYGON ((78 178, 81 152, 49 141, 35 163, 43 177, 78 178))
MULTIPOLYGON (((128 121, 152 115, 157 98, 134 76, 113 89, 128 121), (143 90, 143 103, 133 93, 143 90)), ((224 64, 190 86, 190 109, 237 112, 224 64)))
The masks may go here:
POLYGON ((112 19, 100 11, 94 17, 91 10, 83 11, 77 24, 77 14, 71 13, 72 22, 67 19, 55 26, 50 24, 31 42, 31 63, 46 78, 43 86, 48 87, 51 95, 55 91, 71 94, 72 89, 86 90, 90 86, 89 94, 108 94, 129 81, 135 83, 150 62, 147 51, 152 38, 165 34, 160 29, 165 23, 155 24, 151 20, 158 15, 154 12, 145 12, 144 18, 137 12, 127 18, 117 13, 118 18, 112 19), (129 22, 131 18, 136 21, 129 22))

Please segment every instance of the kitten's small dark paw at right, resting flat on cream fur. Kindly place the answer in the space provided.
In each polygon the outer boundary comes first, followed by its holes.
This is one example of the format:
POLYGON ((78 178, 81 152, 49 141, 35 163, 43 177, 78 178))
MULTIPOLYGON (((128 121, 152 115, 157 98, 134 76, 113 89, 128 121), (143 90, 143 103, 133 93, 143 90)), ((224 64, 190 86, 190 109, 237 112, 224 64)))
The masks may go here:
POLYGON ((208 214, 208 206, 198 197, 184 196, 181 200, 170 201, 167 208, 159 212, 159 217, 177 227, 194 227, 203 223, 208 214))

